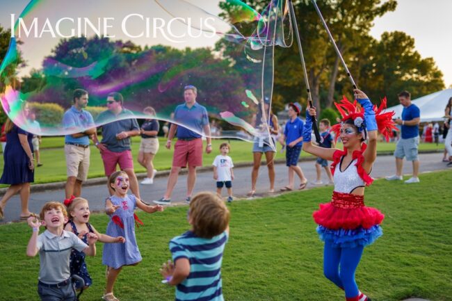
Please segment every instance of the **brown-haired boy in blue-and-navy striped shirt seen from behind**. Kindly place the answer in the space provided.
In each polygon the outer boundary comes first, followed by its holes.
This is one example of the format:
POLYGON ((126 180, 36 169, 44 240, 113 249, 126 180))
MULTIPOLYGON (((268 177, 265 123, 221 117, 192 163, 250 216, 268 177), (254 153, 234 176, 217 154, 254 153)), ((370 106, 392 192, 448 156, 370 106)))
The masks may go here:
POLYGON ((191 229, 170 241, 172 261, 160 270, 176 286, 176 301, 223 301, 221 263, 229 238, 229 210, 218 195, 198 193, 190 202, 191 229))

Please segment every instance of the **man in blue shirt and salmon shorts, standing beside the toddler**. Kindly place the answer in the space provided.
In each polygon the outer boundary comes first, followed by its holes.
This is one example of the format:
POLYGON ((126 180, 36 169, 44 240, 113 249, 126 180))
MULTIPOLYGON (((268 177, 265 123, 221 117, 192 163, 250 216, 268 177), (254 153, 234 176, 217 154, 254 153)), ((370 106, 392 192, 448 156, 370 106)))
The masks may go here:
POLYGON ((177 177, 179 177, 181 168, 186 168, 187 164, 186 202, 190 202, 193 188, 195 188, 196 167, 202 166, 202 139, 200 133, 203 131, 207 138, 206 153, 210 154, 212 152, 209 116, 207 115, 206 108, 196 102, 196 97, 196 87, 186 86, 184 88, 185 104, 180 104, 175 109, 175 122, 171 124, 168 141, 166 142, 166 148, 170 149, 171 140, 174 138, 177 130, 177 142, 172 157, 172 168, 166 186, 166 193, 160 200, 154 201, 155 204, 171 204, 172 190, 176 186, 177 177), (177 124, 184 124, 184 126, 178 126, 177 124))

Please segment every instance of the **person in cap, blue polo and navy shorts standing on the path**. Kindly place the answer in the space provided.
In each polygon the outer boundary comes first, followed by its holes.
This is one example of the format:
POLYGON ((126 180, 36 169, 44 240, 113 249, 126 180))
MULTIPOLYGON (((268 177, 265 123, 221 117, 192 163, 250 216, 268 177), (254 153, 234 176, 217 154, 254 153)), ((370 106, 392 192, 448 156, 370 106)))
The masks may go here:
POLYGON ((300 166, 298 166, 298 158, 300 158, 304 122, 300 120, 298 115, 301 112, 301 105, 296 103, 289 104, 289 120, 284 128, 284 136, 282 140, 286 143, 286 166, 289 168, 289 184, 281 188, 281 191, 293 190, 293 181, 295 174, 300 178, 299 189, 304 189, 307 184, 305 174, 303 174, 300 166))

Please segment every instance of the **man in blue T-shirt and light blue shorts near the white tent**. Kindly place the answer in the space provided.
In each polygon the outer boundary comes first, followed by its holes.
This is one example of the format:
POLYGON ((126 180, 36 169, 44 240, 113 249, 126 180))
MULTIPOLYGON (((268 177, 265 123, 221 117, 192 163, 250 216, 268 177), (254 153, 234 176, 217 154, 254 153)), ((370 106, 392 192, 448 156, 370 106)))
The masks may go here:
POLYGON ((386 177, 388 181, 402 180, 403 157, 412 161, 413 175, 405 181, 406 184, 419 183, 419 157, 417 149, 419 146, 419 122, 421 122, 421 111, 411 102, 410 92, 398 93, 398 101, 403 106, 402 118, 394 120, 401 125, 402 136, 398 140, 394 156, 396 157, 396 174, 386 177))

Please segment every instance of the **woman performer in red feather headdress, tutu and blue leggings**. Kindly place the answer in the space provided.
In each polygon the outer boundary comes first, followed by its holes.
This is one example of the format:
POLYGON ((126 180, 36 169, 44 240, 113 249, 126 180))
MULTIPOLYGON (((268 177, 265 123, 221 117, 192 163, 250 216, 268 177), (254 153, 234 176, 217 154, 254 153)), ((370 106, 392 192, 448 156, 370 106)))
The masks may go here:
POLYGON ((394 112, 382 113, 386 99, 377 108, 364 92, 357 89, 354 92, 356 101, 353 103, 344 97, 341 103, 335 104, 342 119, 331 130, 336 133, 336 138, 340 136, 344 150, 326 149, 311 143, 315 108, 308 108, 306 112, 303 150, 333 161, 332 200, 321 204, 313 214, 318 235, 325 242, 325 277, 344 289, 346 301, 370 301, 357 288, 355 270, 364 247, 382 235, 380 224, 385 216, 378 209, 364 205, 364 187, 373 181, 369 173, 376 160, 378 131, 387 139, 392 135, 394 112))

